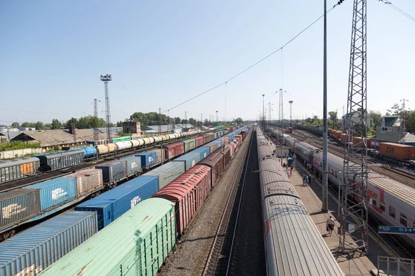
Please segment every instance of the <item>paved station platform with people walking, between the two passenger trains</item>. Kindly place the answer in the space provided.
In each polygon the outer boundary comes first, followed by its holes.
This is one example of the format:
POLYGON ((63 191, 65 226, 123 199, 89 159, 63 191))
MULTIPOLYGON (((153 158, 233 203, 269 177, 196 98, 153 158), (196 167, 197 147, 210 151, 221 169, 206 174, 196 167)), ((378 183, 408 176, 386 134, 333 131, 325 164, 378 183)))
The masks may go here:
MULTIPOLYGON (((283 163, 286 164, 286 159, 283 158, 283 163)), ((291 183, 295 187, 299 197, 306 206, 308 214, 310 214, 311 219, 313 219, 315 226, 322 234, 324 241, 327 246, 329 246, 333 256, 338 261, 340 268, 342 268, 344 275, 374 275, 376 266, 371 262, 371 260, 366 255, 360 255, 360 253, 355 253, 354 255, 347 255, 342 253, 339 249, 339 236, 337 233, 337 228, 340 227, 339 221, 337 221, 335 213, 322 213, 322 200, 315 194, 313 188, 321 187, 321 184, 318 183, 313 178, 313 183, 311 186, 303 185, 302 175, 306 172, 302 164, 296 164, 296 168, 293 170, 293 175, 291 175, 291 183), (326 230, 326 221, 329 218, 329 215, 333 216, 335 219, 335 230, 331 236, 327 233, 326 230)), ((333 210, 334 211, 334 210, 333 210)), ((353 243, 353 239, 349 237, 349 242, 353 243)))

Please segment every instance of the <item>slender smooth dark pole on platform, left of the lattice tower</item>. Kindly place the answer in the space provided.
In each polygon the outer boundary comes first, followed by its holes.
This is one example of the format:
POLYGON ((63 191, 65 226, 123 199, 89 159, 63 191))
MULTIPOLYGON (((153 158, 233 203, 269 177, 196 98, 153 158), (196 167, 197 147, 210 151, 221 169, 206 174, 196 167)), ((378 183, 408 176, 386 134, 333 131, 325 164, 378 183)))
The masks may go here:
MULTIPOLYGON (((322 212, 329 212, 329 168, 327 166, 327 0, 324 0, 323 46, 323 193, 322 212)), ((314 119, 314 116, 313 116, 314 119)))

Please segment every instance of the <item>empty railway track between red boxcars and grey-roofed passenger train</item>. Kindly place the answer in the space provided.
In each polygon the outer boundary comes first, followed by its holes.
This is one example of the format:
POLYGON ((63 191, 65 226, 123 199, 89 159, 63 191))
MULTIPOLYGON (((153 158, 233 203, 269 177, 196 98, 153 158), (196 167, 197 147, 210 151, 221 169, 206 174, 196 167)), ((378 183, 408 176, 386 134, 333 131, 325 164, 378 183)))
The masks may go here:
POLYGON ((203 268, 202 275, 228 275, 228 270, 230 267, 230 256, 232 255, 237 222, 241 209, 241 200, 243 187, 245 185, 246 173, 243 177, 241 185, 239 185, 241 181, 239 175, 243 172, 243 164, 245 164, 245 161, 246 166, 248 166, 252 140, 253 139, 251 135, 250 145, 248 147, 248 155, 242 158, 241 164, 239 164, 237 177, 235 177, 232 183, 232 188, 226 201, 221 221, 219 223, 218 230, 216 231, 212 248, 210 248, 209 257, 205 267, 203 268), (235 204, 238 204, 237 208, 235 208, 235 204))

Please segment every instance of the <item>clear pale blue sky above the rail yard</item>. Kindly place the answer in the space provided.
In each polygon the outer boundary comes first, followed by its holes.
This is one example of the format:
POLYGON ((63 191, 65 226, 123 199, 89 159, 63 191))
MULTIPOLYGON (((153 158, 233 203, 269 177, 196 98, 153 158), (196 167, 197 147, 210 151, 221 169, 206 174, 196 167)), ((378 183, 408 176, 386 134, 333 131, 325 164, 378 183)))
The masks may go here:
MULTIPOLYGON (((394 1, 415 16, 415 2, 394 1)), ((371 0, 367 7, 369 110, 399 99, 415 108, 415 22, 371 0)), ((328 1, 333 6, 337 1, 328 1)), ((277 50, 320 17, 323 1, 1 1, 0 124, 92 115, 102 74, 112 74, 111 121, 167 110, 277 50), (30 111, 30 112, 22 112, 30 111)), ((347 104, 351 15, 328 16, 329 111, 347 104)), ((226 117, 257 118, 261 94, 283 88, 284 114, 322 117, 322 28, 228 83, 226 117), (282 61, 283 59, 283 69, 282 61), (281 70, 283 70, 283 79, 281 70), (283 81, 283 83, 282 83, 283 81), (249 110, 249 111, 247 111, 249 110)), ((169 112, 200 119, 225 111, 225 86, 169 112)), ((277 117, 278 97, 273 103, 277 117)), ((100 113, 104 117, 104 113, 100 113)))

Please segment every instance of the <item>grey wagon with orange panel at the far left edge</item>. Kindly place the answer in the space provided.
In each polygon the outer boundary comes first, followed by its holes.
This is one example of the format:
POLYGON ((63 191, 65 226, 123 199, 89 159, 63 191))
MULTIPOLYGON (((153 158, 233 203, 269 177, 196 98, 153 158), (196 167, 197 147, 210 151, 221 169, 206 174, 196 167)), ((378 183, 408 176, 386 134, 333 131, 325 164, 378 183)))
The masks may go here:
POLYGON ((0 161, 0 183, 35 175, 40 161, 35 157, 0 161))

